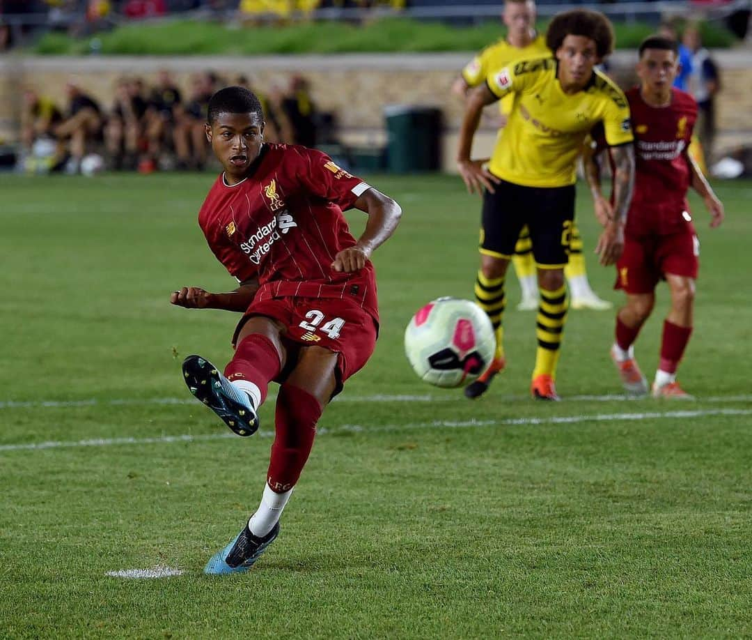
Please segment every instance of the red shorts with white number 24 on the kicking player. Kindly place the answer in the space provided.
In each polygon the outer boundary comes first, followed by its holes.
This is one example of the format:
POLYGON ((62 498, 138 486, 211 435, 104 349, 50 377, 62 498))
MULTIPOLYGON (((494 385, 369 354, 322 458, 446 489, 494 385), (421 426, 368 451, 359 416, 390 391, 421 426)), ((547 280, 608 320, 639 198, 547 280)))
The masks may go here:
POLYGON ((296 351, 304 346, 322 346, 337 354, 337 389, 362 369, 374 352, 378 325, 362 306, 347 298, 280 297, 251 303, 235 329, 233 344, 248 318, 265 315, 287 327, 283 341, 288 362, 277 382, 283 382, 297 361, 296 351))

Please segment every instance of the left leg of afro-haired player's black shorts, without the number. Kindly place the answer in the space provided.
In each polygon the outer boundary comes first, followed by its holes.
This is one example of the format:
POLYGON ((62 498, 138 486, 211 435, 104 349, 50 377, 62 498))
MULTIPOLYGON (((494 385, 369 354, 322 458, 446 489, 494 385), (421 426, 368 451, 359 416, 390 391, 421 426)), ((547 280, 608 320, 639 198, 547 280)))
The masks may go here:
POLYGON ((500 181, 494 193, 488 190, 483 194, 481 212, 481 254, 490 258, 509 260, 514 254, 514 245, 525 226, 526 203, 520 199, 524 187, 500 181))

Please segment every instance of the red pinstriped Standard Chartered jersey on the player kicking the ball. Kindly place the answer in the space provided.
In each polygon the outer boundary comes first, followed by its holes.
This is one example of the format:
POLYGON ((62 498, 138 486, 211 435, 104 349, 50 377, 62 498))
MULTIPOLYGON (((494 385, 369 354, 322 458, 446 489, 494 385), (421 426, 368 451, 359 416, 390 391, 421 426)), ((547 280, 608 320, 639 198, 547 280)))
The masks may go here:
POLYGON ((199 225, 232 276, 259 279, 255 300, 347 298, 378 320, 371 262, 355 273, 331 267, 338 251, 356 243, 342 211, 368 188, 321 151, 265 143, 243 181, 217 178, 199 225))

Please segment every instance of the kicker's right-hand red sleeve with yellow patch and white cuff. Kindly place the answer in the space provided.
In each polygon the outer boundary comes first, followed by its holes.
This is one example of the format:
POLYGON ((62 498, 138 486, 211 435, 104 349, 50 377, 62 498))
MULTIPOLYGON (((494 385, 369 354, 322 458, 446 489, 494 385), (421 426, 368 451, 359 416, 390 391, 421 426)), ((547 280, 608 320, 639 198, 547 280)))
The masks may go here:
POLYGON ((296 162, 301 164, 297 172, 302 187, 314 197, 329 200, 340 209, 350 209, 369 185, 350 175, 334 163, 328 155, 305 147, 296 147, 299 154, 296 162))

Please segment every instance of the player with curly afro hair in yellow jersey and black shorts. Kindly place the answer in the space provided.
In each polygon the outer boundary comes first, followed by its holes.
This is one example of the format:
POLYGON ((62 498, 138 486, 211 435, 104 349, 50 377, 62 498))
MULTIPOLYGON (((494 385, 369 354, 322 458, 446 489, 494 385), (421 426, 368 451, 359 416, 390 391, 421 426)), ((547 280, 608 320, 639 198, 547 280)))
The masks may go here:
POLYGON ((558 400, 554 379, 568 309, 564 267, 575 218, 576 163, 585 137, 602 123, 616 162, 616 215, 596 251, 614 264, 623 248, 622 221, 634 178, 629 108, 621 90, 594 69, 611 53, 611 23, 594 11, 569 11, 551 21, 546 44, 553 57, 524 59, 490 72, 472 90, 459 133, 457 166, 468 191, 483 192, 481 269, 475 295, 496 328, 496 357, 481 378, 465 389, 468 398, 487 391, 505 367, 502 315, 505 273, 524 225, 538 264, 541 302, 536 318, 538 352, 530 387, 533 398, 558 400), (471 160, 481 111, 514 94, 507 126, 489 166, 471 160))

